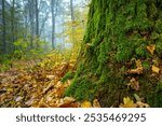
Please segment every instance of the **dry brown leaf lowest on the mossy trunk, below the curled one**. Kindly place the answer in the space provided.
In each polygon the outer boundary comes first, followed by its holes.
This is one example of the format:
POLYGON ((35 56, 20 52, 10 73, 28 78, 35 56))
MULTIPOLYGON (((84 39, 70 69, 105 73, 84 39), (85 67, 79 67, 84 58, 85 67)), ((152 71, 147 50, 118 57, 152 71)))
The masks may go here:
POLYGON ((127 86, 131 87, 132 89, 139 90, 139 82, 136 81, 134 78, 130 80, 127 86))

